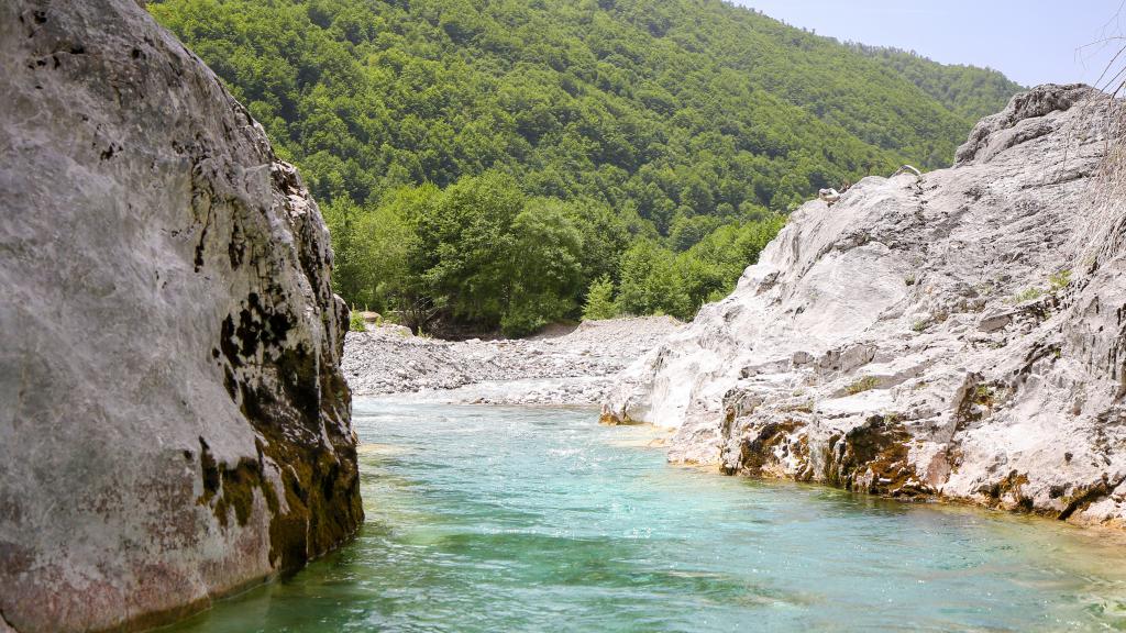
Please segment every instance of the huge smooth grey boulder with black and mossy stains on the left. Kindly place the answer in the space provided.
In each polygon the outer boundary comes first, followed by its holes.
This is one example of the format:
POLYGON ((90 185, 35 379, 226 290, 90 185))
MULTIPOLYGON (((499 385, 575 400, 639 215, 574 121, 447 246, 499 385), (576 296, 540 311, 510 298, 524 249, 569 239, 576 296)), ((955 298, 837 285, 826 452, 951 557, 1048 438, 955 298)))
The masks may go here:
POLYGON ((0 630, 134 630, 363 519, 296 171, 133 0, 0 3, 0 630))

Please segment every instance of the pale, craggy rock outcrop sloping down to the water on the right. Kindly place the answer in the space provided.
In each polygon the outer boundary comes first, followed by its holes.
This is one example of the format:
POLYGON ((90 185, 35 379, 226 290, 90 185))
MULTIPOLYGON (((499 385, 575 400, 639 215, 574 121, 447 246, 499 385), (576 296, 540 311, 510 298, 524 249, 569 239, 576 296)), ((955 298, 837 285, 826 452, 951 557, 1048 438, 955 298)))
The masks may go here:
POLYGON ((1040 87, 953 169, 806 204, 605 420, 676 427, 670 458, 727 473, 1120 525, 1126 209, 1092 195, 1112 107, 1040 87))

